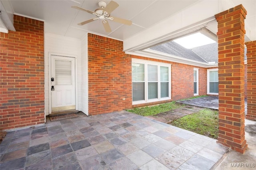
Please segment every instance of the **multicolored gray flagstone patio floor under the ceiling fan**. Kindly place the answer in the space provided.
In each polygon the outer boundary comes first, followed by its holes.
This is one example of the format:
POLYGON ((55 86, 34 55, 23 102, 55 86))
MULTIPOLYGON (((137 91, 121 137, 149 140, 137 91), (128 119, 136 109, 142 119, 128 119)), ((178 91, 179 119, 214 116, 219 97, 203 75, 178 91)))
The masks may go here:
POLYGON ((50 121, 10 131, 1 170, 168 170, 212 168, 228 148, 127 111, 50 121))

